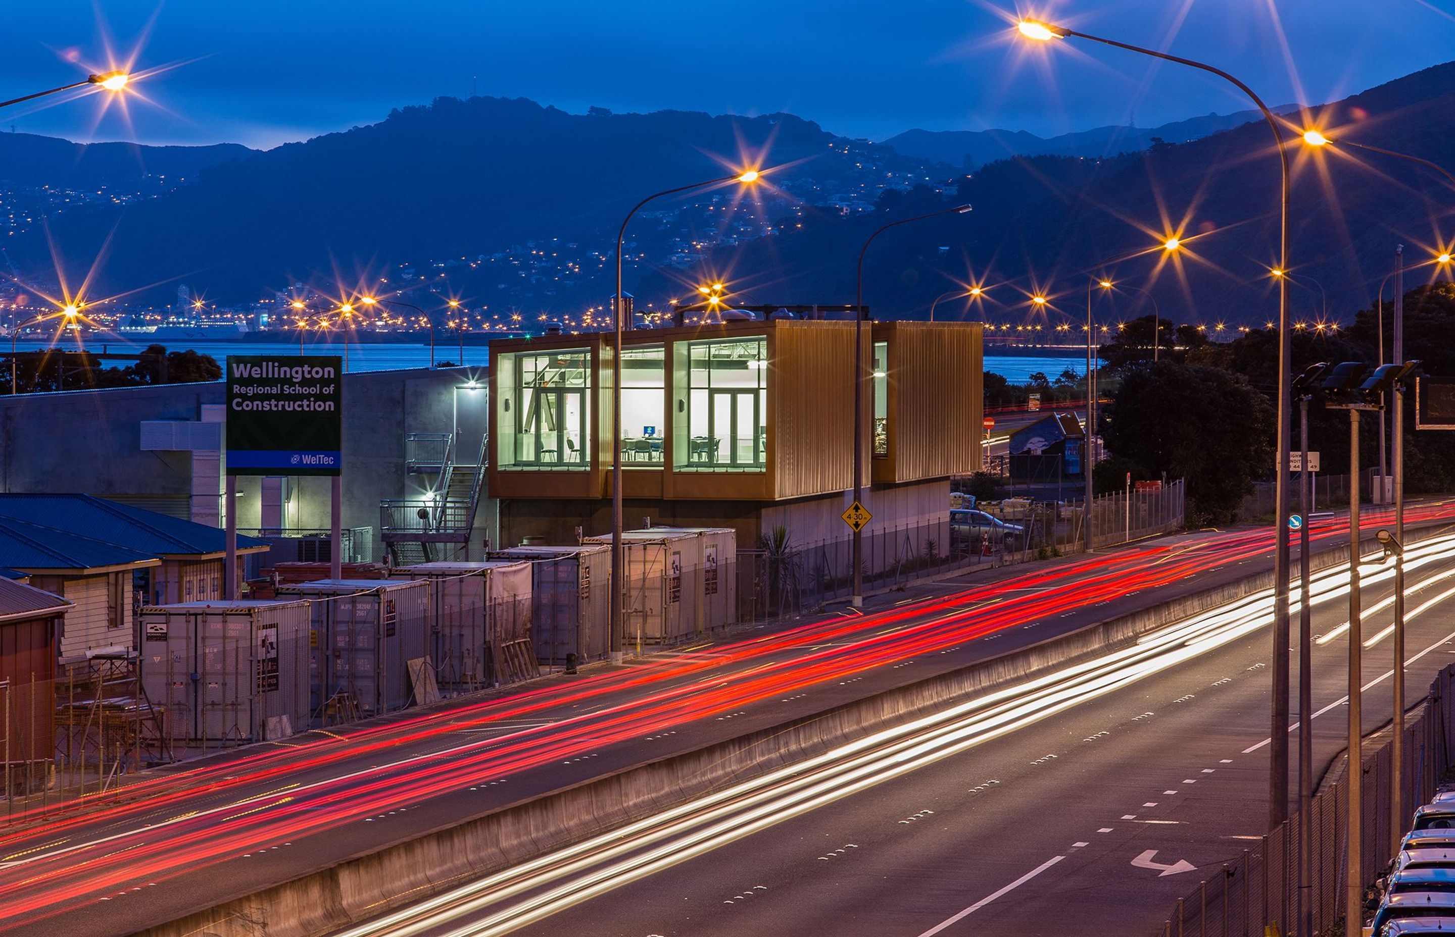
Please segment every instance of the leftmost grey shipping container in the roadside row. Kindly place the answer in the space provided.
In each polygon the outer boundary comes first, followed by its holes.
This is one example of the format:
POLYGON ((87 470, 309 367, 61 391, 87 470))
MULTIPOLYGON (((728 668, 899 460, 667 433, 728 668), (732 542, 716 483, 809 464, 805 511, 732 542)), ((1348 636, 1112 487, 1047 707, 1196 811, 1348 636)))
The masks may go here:
POLYGON ((308 727, 306 602, 214 601, 141 610, 141 682, 173 745, 236 745, 308 727))

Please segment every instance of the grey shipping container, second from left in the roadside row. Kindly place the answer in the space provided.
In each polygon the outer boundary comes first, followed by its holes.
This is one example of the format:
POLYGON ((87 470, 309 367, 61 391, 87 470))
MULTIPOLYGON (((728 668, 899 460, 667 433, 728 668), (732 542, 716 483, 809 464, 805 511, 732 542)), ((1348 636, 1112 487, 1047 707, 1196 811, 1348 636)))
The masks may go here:
MULTIPOLYGON (((313 607, 314 725, 367 719, 416 700, 410 662, 428 662, 431 589, 423 579, 320 579, 282 586, 313 607)), ((420 698, 425 697, 419 688, 420 698)))

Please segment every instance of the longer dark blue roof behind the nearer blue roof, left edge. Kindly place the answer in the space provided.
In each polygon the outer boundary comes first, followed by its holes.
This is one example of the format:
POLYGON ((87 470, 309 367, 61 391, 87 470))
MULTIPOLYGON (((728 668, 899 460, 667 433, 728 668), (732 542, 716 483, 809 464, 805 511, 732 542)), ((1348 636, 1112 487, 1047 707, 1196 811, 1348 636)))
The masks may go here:
MULTIPOLYGON (((144 553, 147 557, 221 553, 226 533, 90 495, 0 495, 0 522, 17 521, 144 553)), ((262 540, 237 537, 239 549, 265 547, 262 540)), ((4 565, 0 554, 0 565, 4 565)), ((15 565, 15 563, 12 563, 15 565)), ((26 563, 20 563, 26 566, 26 563)))

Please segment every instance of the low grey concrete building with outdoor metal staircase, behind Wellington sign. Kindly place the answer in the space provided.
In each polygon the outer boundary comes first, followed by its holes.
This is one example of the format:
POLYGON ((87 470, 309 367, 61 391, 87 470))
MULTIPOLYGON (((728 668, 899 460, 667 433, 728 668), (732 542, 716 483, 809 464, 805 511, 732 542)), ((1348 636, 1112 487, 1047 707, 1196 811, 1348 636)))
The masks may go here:
MULTIPOLYGON (((345 374, 345 562, 380 560, 388 544, 396 565, 482 556, 495 531, 479 463, 483 377, 480 368, 345 374)), ((221 381, 0 396, 0 492, 86 492, 220 527, 224 420, 221 381)), ((237 527, 272 543, 272 560, 329 562, 329 509, 326 477, 239 483, 237 527)))

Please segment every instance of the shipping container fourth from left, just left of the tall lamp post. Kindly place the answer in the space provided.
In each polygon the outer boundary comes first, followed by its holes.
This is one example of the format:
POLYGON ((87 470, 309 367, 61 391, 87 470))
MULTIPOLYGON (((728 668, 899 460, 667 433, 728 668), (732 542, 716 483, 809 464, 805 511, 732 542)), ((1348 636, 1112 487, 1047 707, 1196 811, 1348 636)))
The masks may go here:
POLYGON ((541 663, 565 665, 607 656, 611 627, 611 550, 598 544, 573 547, 509 547, 492 560, 531 565, 531 637, 541 663))

